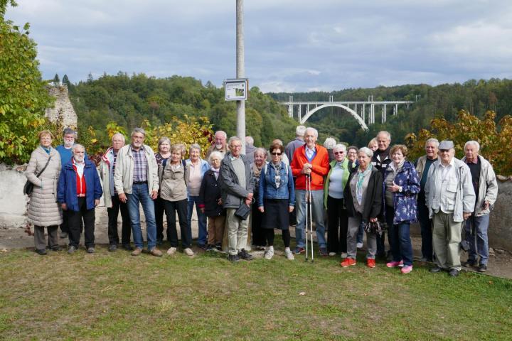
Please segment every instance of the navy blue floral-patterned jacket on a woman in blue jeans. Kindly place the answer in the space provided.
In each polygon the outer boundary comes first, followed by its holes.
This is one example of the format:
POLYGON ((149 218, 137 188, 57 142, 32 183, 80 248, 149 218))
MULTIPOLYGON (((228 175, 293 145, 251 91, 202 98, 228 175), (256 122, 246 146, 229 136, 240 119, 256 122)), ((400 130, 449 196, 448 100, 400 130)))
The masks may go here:
MULTIPOLYGON (((390 167, 387 167, 385 177, 388 176, 389 172, 390 167)), ((416 168, 410 161, 405 161, 400 171, 395 175, 395 184, 402 187, 402 192, 393 193, 393 207, 395 208, 393 224, 417 222, 416 194, 420 192, 420 178, 417 175, 416 168)), ((385 200, 385 190, 386 184, 384 180, 383 200, 385 200)), ((385 214, 385 202, 383 202, 383 207, 385 214)))

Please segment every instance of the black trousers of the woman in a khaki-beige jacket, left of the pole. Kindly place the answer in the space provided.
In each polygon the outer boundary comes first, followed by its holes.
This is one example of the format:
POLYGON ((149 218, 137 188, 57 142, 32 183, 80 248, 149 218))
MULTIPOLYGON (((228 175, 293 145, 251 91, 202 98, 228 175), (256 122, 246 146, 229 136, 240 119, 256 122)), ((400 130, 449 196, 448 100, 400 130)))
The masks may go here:
POLYGON ((176 230, 176 211, 180 222, 181 247, 191 247, 190 229, 187 220, 188 200, 168 201, 164 200, 164 207, 167 217, 167 239, 171 247, 178 247, 178 231, 176 230))

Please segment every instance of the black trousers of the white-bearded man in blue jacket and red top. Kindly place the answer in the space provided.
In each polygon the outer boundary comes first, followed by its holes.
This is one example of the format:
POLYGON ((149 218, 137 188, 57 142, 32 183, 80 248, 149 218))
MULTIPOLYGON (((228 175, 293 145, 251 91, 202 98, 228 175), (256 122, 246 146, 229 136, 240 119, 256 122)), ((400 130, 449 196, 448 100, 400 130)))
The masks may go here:
POLYGON ((95 209, 87 210, 85 197, 78 198, 78 211, 68 209, 70 246, 78 248, 82 234, 82 220, 85 234, 85 247, 94 247, 95 209))

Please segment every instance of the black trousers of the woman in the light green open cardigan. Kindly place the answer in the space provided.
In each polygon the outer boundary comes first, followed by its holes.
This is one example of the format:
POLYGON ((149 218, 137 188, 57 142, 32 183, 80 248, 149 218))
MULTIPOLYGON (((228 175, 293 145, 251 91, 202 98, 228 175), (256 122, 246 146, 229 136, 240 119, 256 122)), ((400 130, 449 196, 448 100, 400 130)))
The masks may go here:
POLYGON ((346 236, 348 231, 348 215, 343 208, 343 199, 327 196, 327 249, 329 252, 346 252, 346 236))

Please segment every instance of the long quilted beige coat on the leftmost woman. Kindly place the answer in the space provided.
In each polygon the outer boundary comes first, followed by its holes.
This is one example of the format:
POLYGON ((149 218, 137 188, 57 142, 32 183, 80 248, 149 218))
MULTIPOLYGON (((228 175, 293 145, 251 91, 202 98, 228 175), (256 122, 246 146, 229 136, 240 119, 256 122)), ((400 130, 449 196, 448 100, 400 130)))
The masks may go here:
POLYGON ((60 175, 60 155, 51 148, 50 155, 41 146, 32 152, 25 172, 26 178, 34 184, 28 202, 28 222, 37 226, 62 224, 62 211, 57 202, 57 184, 60 175), (36 175, 44 168, 48 158, 50 163, 41 176, 36 175))

